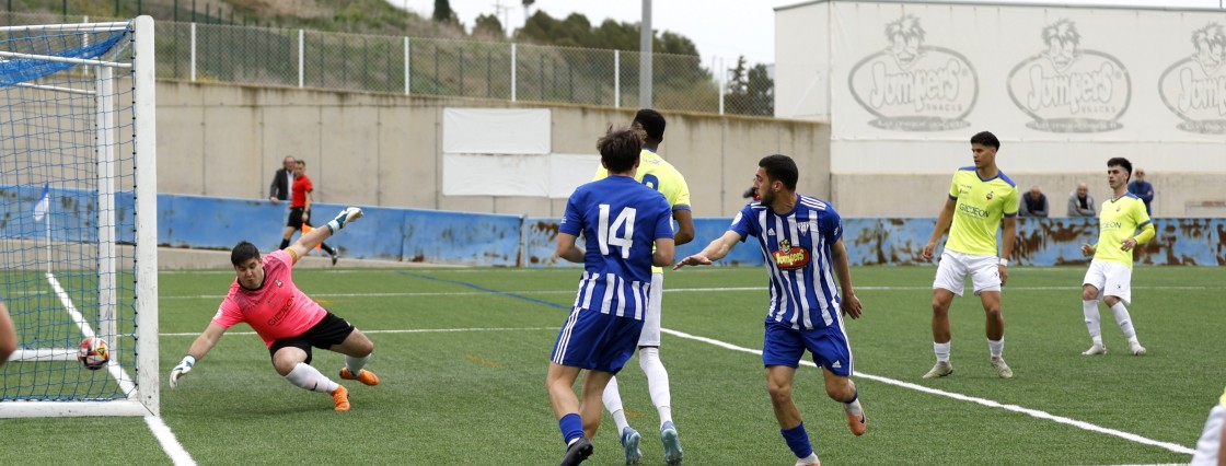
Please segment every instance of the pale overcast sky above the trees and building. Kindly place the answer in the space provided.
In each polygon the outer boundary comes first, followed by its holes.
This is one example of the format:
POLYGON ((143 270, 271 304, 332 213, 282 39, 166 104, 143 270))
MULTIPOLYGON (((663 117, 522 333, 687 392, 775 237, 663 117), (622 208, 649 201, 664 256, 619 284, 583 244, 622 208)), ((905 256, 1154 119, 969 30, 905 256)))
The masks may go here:
MULTIPOLYGON (((521 0, 450 0, 451 10, 470 29, 478 15, 498 15, 504 27, 524 26, 524 6, 521 0)), ((408 10, 429 17, 434 12, 434 0, 387 0, 387 2, 408 7, 408 10)), ((725 67, 736 64, 744 55, 750 64, 775 63, 775 7, 798 5, 804 0, 652 0, 651 27, 656 31, 672 31, 694 40, 702 63, 710 64, 712 58, 721 58, 725 67), (701 7, 701 12, 695 11, 701 7)), ((945 1, 948 2, 948 1, 945 1)), ((1118 5, 1118 6, 1166 6, 1166 7, 1220 7, 1222 0, 1002 0, 1015 4, 1073 4, 1073 5, 1118 5)), ((642 0, 536 0, 532 12, 543 10, 549 16, 564 18, 573 12, 584 13, 592 25, 600 25, 606 18, 619 22, 636 23, 642 17, 642 0)))

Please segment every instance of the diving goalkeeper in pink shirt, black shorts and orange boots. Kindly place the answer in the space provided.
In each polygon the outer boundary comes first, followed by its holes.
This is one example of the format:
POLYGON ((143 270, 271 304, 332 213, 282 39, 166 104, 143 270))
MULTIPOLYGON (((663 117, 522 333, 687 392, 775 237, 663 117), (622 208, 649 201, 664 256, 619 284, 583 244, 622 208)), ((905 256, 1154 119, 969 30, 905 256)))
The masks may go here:
POLYGON ((363 369, 374 351, 370 338, 308 298, 294 286, 292 276, 299 258, 360 217, 360 208, 346 208, 326 228, 316 228, 289 248, 262 259, 254 244, 235 245, 230 262, 238 280, 230 285, 208 327, 188 348, 188 356, 170 370, 170 388, 179 386, 179 378, 191 372, 222 334, 239 323, 246 323, 264 338, 278 374, 303 389, 331 394, 336 411, 349 411, 349 391, 310 365, 313 346, 345 354, 342 379, 379 385, 379 376, 363 369))

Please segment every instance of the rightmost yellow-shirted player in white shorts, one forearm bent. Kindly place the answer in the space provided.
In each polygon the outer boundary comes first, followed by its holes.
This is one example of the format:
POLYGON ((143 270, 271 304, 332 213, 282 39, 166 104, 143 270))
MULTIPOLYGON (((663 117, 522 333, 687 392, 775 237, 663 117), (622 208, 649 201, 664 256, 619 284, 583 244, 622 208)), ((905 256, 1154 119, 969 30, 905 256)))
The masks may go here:
POLYGON ((1128 351, 1145 356, 1145 347, 1137 340, 1137 329, 1133 327, 1127 305, 1133 302, 1133 249, 1152 239, 1155 232, 1154 223, 1145 212, 1145 201, 1128 193, 1132 174, 1133 164, 1127 158, 1114 157, 1107 161, 1107 184, 1114 194, 1098 210, 1098 243, 1081 245, 1081 254, 1094 256, 1081 285, 1081 311, 1094 345, 1081 354, 1107 352, 1098 324, 1098 300, 1102 299, 1128 338, 1128 351))

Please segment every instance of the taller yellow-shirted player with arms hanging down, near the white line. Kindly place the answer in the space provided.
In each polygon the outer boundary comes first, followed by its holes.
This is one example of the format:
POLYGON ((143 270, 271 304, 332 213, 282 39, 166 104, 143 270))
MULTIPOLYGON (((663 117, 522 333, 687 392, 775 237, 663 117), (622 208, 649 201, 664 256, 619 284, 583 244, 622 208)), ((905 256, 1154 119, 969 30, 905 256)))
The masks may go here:
POLYGON ((1004 318, 1000 315, 1000 287, 1009 280, 1009 258, 1018 229, 1018 185, 1000 172, 996 155, 1000 140, 983 131, 971 137, 973 167, 954 173, 949 199, 937 217, 937 228, 923 258, 932 260, 937 240, 949 229, 949 240, 940 255, 937 278, 932 283, 932 346, 937 364, 923 375, 934 379, 954 373, 949 362, 949 305, 954 294, 962 296, 966 277, 983 303, 988 352, 997 375, 1013 378, 1013 369, 1004 362, 1004 318), (1004 224, 1004 245, 997 256, 997 228, 1004 224))

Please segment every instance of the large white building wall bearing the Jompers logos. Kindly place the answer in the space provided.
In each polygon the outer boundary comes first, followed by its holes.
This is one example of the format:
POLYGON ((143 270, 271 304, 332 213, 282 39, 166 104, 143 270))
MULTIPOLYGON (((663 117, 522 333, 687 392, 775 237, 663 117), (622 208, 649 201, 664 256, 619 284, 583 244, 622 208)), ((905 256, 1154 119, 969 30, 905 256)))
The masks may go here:
POLYGON ((1160 215, 1226 215, 1204 208, 1226 205, 1226 10, 835 0, 780 7, 776 29, 776 116, 830 121, 845 215, 934 215, 984 130, 1053 206, 1075 180, 1103 199, 1121 156, 1160 215), (803 98, 823 69, 830 101, 803 98))

